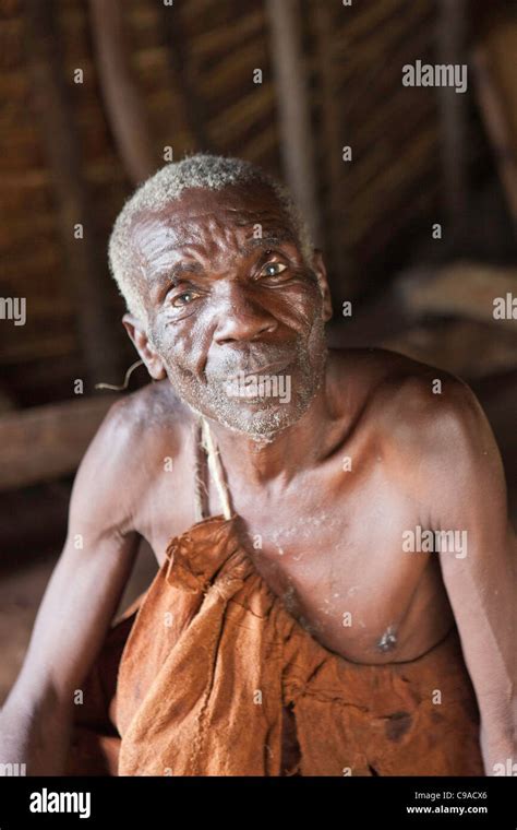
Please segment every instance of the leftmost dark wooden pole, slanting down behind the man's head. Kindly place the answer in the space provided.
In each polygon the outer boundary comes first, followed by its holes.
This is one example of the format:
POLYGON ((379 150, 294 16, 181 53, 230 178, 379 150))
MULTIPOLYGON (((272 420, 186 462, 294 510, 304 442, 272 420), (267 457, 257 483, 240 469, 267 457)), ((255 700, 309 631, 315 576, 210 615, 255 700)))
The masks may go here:
POLYGON ((88 380, 117 378, 119 349, 108 311, 109 275, 82 175, 81 141, 64 78, 56 7, 53 0, 25 0, 25 12, 32 91, 56 194, 67 278, 77 309, 79 340, 88 380), (83 228, 82 238, 76 237, 77 226, 83 228))

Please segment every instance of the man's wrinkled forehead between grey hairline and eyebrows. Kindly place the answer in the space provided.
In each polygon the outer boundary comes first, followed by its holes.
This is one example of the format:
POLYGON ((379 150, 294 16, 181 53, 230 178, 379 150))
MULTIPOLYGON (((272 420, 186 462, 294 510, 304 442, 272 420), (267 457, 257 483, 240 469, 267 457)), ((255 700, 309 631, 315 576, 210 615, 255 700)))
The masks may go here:
POLYGON ((275 191, 262 182, 221 190, 190 188, 159 211, 139 213, 132 224, 133 252, 146 271, 171 257, 215 259, 244 253, 251 240, 299 247, 293 223, 275 191))

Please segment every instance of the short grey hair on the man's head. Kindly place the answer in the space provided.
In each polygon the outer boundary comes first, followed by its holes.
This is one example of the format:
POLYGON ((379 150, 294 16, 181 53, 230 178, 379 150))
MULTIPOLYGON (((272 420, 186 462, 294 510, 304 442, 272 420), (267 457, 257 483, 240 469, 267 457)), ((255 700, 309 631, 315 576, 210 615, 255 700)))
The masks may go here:
POLYGON ((313 242, 309 226, 281 182, 251 162, 196 153, 165 165, 144 181, 128 199, 115 222, 108 246, 109 268, 131 313, 147 322, 139 275, 132 262, 131 236, 135 217, 144 211, 160 211, 164 205, 178 201, 188 188, 223 190, 245 182, 260 182, 274 191, 298 235, 305 263, 312 263, 313 242))

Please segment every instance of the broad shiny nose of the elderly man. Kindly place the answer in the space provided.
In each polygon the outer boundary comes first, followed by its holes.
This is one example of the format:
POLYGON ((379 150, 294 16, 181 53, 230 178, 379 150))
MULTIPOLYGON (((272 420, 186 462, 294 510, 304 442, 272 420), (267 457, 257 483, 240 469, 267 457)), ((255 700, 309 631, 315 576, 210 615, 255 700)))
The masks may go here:
POLYGON ((255 340, 273 332, 278 322, 251 296, 250 289, 232 283, 218 297, 214 340, 219 345, 255 340))

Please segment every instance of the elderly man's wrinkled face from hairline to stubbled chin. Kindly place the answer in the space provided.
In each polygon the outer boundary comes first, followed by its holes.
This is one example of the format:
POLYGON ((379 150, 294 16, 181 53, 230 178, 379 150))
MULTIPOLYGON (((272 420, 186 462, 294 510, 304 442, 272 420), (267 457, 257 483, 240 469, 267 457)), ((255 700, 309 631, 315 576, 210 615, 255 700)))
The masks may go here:
POLYGON ((255 439, 297 422, 324 375, 324 276, 274 192, 190 189, 133 239, 149 344, 181 399, 255 439))

